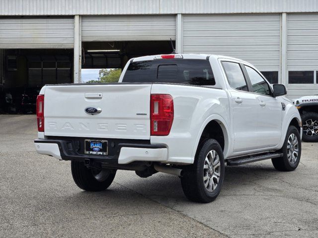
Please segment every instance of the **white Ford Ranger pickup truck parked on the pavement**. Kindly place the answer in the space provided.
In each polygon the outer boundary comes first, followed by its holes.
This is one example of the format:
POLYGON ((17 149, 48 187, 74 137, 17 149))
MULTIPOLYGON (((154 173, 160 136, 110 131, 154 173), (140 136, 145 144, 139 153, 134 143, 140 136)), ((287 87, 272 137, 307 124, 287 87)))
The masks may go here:
POLYGON ((271 159, 293 171, 302 122, 250 63, 171 54, 130 60, 118 83, 46 85, 37 98, 38 153, 70 160, 75 183, 109 187, 117 170, 180 177, 185 196, 213 201, 225 163, 271 159))

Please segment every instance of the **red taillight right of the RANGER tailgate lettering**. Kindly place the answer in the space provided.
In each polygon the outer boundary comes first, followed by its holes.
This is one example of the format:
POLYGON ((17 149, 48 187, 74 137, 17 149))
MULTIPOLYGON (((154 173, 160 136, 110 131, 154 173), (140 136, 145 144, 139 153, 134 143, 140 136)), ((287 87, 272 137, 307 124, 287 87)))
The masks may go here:
POLYGON ((152 94, 150 100, 151 135, 168 135, 173 121, 173 99, 168 94, 152 94))

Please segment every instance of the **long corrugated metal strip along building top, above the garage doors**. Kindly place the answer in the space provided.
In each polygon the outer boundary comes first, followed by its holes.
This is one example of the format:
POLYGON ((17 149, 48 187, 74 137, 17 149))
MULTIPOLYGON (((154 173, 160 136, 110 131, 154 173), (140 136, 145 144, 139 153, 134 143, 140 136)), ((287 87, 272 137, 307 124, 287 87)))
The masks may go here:
POLYGON ((0 15, 317 12, 317 0, 0 0, 0 15))

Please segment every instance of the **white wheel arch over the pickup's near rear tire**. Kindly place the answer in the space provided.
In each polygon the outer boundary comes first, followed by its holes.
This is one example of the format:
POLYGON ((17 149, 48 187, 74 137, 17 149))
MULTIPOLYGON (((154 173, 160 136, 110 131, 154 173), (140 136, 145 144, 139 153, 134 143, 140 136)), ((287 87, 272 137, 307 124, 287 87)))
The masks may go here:
MULTIPOLYGON (((206 136, 207 134, 209 135, 208 138, 216 139, 220 143, 223 149, 224 157, 226 158, 231 148, 229 126, 226 123, 226 121, 219 115, 210 116, 202 124, 195 141, 194 150, 192 152, 192 158, 195 158, 199 143, 202 140, 202 138, 204 138, 204 136, 206 136), (214 135, 215 137, 210 137, 211 135, 212 136, 214 135)), ((194 162, 194 159, 192 163, 193 162, 194 162)))

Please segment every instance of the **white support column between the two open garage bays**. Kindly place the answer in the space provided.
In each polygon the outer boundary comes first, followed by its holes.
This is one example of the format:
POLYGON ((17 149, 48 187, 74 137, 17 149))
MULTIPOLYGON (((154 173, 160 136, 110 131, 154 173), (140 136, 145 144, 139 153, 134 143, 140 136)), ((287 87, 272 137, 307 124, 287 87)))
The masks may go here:
POLYGON ((81 16, 74 16, 74 83, 80 83, 81 70, 81 16))

